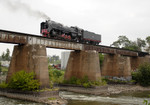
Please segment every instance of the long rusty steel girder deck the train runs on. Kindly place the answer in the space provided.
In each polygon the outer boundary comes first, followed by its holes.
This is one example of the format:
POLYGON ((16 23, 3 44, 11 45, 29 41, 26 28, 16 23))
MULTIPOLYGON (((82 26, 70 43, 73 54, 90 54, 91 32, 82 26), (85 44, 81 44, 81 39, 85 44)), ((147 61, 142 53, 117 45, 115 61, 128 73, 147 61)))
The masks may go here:
POLYGON ((13 44, 43 44, 50 48, 69 49, 69 50, 96 50, 100 53, 121 54, 124 56, 145 56, 146 52, 131 51, 126 49, 114 48, 103 45, 88 45, 70 41, 45 38, 40 35, 32 35, 13 31, 0 30, 0 42, 13 44))

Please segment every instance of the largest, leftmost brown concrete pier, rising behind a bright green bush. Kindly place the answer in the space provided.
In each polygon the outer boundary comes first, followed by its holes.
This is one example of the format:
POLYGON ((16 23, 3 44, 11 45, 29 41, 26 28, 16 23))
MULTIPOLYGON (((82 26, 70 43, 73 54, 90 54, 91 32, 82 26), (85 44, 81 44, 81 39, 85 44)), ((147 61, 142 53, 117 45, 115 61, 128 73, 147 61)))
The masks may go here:
POLYGON ((6 81, 20 71, 35 72, 41 88, 49 87, 48 62, 46 46, 44 45, 17 45, 14 47, 6 81))

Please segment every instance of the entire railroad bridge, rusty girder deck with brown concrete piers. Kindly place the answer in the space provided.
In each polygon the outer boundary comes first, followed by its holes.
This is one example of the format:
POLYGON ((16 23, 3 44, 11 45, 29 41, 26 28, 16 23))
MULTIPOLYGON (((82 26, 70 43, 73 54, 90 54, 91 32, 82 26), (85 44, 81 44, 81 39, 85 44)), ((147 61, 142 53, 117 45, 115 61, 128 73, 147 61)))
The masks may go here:
POLYGON ((74 50, 70 54, 65 79, 72 76, 97 80, 102 76, 130 77, 143 62, 150 62, 146 52, 131 51, 103 45, 88 45, 71 41, 49 39, 39 35, 0 30, 0 42, 18 44, 14 47, 7 82, 19 70, 34 71, 41 87, 49 86, 47 48, 74 50), (99 53, 105 53, 100 71, 99 53))

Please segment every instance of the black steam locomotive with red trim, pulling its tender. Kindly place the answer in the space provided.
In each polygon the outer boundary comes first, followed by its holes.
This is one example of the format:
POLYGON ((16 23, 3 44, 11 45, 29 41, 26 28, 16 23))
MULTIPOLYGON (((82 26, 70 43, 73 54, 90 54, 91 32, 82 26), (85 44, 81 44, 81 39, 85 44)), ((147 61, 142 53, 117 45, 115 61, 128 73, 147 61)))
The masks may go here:
POLYGON ((41 34, 48 38, 69 40, 93 45, 98 45, 101 42, 101 35, 78 27, 67 27, 51 20, 41 23, 41 34))

